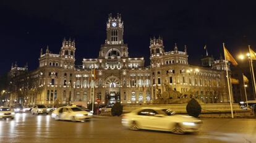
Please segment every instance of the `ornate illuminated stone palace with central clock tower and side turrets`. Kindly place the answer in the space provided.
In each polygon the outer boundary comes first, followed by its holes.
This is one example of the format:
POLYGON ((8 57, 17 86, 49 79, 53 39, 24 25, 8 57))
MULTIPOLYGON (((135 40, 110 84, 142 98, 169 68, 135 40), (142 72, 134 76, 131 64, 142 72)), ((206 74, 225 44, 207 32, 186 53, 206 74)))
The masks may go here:
MULTIPOLYGON (((101 104, 151 104, 166 91, 164 84, 205 103, 228 102, 223 60, 205 57, 202 66, 189 65, 186 46, 179 51, 175 44, 173 51, 166 52, 163 39, 153 38, 148 49, 150 65, 145 67, 143 57, 129 57, 123 33, 121 15, 109 15, 98 58, 75 65, 75 41, 64 39, 59 54, 48 47, 45 52, 41 49, 36 70, 15 63, 10 71, 9 104, 90 103, 92 95, 101 104)), ((176 98, 183 97, 189 96, 176 98)))

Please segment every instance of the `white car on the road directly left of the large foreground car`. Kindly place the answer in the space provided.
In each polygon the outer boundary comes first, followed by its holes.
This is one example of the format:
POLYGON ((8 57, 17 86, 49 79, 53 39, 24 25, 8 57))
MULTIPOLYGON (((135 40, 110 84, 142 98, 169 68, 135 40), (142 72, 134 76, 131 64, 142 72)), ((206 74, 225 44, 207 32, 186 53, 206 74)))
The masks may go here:
POLYGON ((59 107, 51 113, 55 120, 85 121, 92 118, 92 113, 82 110, 79 107, 59 107))

